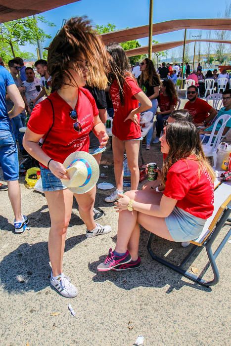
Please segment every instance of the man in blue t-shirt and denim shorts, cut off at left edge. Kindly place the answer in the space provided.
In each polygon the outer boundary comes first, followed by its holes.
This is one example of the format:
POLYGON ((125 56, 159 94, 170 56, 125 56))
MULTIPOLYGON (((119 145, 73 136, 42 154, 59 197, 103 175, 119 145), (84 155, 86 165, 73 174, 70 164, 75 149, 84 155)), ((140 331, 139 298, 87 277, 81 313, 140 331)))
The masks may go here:
POLYGON ((22 233, 27 225, 28 217, 21 213, 21 193, 18 182, 18 150, 11 130, 10 119, 16 117, 24 109, 24 102, 10 73, 0 66, 0 166, 3 178, 8 184, 8 196, 14 212, 15 233, 22 233), (7 112, 5 94, 14 105, 7 112))

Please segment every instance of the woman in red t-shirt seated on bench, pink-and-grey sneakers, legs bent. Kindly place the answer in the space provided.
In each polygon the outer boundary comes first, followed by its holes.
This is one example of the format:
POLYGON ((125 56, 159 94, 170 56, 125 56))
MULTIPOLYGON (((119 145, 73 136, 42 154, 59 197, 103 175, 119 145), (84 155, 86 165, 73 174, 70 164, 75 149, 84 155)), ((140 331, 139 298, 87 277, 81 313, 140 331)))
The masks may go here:
POLYGON ((115 250, 97 267, 99 271, 127 270, 140 266, 139 225, 175 242, 196 239, 213 213, 214 173, 206 160, 198 130, 188 122, 164 129, 161 152, 164 193, 151 189, 128 191, 115 202, 119 213, 115 250))

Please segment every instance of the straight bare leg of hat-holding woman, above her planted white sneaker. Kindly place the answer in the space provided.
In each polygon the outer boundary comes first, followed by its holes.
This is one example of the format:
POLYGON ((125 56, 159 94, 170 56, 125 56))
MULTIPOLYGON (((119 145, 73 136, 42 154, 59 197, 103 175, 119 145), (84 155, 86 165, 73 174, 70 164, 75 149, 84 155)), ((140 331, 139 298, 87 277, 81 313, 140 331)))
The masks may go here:
POLYGON ((68 189, 45 192, 51 227, 48 238, 49 258, 53 276, 62 273, 67 227, 71 218, 73 193, 68 189))

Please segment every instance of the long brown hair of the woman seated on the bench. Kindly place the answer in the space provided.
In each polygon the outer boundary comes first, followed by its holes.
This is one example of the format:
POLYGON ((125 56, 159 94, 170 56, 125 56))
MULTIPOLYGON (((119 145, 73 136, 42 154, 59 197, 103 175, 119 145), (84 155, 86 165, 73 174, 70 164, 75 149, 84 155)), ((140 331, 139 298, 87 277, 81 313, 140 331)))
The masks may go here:
POLYGON ((180 121, 167 125, 166 141, 169 145, 169 153, 163 163, 164 184, 170 167, 181 159, 197 161, 198 178, 205 169, 214 180, 215 174, 204 155, 199 133, 194 124, 180 121))

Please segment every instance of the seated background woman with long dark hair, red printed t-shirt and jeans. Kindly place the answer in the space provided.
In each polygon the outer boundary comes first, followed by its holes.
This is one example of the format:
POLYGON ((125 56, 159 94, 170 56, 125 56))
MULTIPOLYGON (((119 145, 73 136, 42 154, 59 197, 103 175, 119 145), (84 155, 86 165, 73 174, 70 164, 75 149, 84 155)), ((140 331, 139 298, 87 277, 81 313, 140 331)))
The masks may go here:
POLYGON ((161 132, 164 129, 164 121, 168 119, 177 104, 177 92, 170 79, 162 82, 160 91, 158 101, 160 111, 156 112, 156 138, 153 140, 153 144, 159 143, 161 132))

